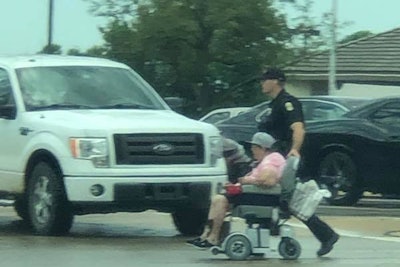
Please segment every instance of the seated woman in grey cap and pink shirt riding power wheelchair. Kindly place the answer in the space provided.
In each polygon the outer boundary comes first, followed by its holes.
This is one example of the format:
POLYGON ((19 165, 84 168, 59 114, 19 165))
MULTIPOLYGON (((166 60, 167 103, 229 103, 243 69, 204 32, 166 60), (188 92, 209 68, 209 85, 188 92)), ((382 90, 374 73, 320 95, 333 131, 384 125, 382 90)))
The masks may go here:
MULTIPOLYGON (((255 166, 246 175, 237 179, 237 184, 226 185, 226 194, 216 195, 210 206, 208 223, 202 235, 196 239, 188 240, 187 243, 198 248, 210 248, 219 245, 221 227, 224 222, 225 214, 229 211, 230 204, 236 205, 279 205, 276 197, 266 194, 247 194, 240 190, 235 192, 235 188, 240 188, 241 184, 253 184, 260 187, 273 189, 279 184, 285 166, 285 158, 278 152, 274 152, 271 147, 275 139, 267 133, 258 132, 253 135, 251 141, 251 151, 255 160, 255 166), (236 185, 236 187, 235 187, 236 185), (235 194, 237 193, 237 194, 235 194)), ((229 163, 228 169, 229 169, 229 163)))

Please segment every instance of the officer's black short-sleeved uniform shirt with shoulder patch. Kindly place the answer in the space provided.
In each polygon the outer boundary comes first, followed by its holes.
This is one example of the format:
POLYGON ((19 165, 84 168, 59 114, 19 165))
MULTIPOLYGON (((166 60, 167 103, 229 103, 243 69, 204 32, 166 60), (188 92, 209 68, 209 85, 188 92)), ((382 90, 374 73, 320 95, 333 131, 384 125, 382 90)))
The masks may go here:
POLYGON ((269 104, 270 112, 258 125, 259 131, 266 132, 278 140, 278 151, 287 153, 291 147, 293 131, 290 128, 295 122, 304 122, 300 101, 282 90, 269 104))

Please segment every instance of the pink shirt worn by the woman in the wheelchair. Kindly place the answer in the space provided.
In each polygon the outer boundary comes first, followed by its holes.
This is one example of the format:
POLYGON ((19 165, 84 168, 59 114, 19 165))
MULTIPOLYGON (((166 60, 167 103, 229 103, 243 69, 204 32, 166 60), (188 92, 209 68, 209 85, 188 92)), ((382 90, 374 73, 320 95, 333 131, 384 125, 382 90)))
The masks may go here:
POLYGON ((270 169, 276 172, 276 183, 282 177, 283 169, 285 168, 285 158, 278 152, 268 154, 263 160, 253 168, 253 170, 247 175, 249 178, 257 179, 262 171, 270 169))

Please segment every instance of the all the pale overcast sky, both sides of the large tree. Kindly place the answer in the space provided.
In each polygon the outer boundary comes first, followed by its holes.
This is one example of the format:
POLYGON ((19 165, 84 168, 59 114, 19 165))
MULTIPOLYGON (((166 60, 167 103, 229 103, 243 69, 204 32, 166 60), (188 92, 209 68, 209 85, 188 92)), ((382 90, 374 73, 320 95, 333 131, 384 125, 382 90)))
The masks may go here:
MULTIPOLYGON (((217 0, 216 0, 217 1, 217 0)), ((235 1, 235 0, 232 0, 235 1)), ((88 12, 83 0, 54 0, 53 43, 63 51, 81 51, 103 43, 98 27, 105 20, 88 12)), ((332 0, 314 0, 316 17, 331 10, 332 0)), ((340 35, 360 30, 380 33, 400 27, 400 0, 337 0, 338 22, 353 24, 340 35)), ((32 54, 47 44, 48 0, 0 0, 0 54, 32 54)))

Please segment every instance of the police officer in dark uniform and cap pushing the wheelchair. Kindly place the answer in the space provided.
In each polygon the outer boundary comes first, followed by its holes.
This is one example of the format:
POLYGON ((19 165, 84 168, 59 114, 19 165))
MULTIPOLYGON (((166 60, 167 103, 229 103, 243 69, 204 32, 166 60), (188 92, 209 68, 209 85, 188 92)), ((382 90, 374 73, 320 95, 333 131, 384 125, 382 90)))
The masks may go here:
MULTIPOLYGON (((284 89, 286 76, 281 69, 270 68, 261 76, 262 92, 272 98, 266 116, 258 125, 259 131, 272 135, 277 142, 275 149, 282 155, 300 157, 305 130, 300 101, 284 89)), ((318 256, 328 254, 339 235, 315 214, 301 220, 321 242, 318 256)))

